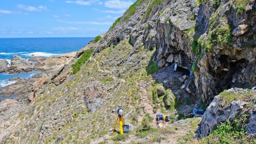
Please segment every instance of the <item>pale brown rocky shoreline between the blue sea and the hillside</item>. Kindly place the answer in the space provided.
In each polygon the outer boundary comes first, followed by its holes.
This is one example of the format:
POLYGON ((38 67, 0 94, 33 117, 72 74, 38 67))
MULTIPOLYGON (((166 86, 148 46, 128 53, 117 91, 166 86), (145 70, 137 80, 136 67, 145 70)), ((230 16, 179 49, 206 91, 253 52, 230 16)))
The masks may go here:
MULTIPOLYGON (((9 117, 15 115, 19 110, 27 107, 27 104, 33 101, 37 89, 39 89, 43 83, 51 83, 51 80, 54 80, 59 75, 61 75, 59 77, 62 78, 66 77, 68 74, 60 74, 60 71, 65 65, 70 66, 69 63, 75 58, 76 51, 48 58, 33 56, 28 60, 20 56, 14 56, 11 60, 10 67, 8 66, 8 61, 0 59, 0 72, 8 72, 9 74, 32 72, 32 70, 40 72, 32 75, 32 77, 28 79, 21 79, 19 77, 11 78, 8 81, 16 82, 5 87, 0 87, 0 96, 2 97, 0 97, 1 121, 8 120, 9 117), (5 99, 3 99, 3 97, 5 99)), ((55 81, 59 83, 59 80, 55 81)), ((41 91, 40 93, 43 92, 41 91)))

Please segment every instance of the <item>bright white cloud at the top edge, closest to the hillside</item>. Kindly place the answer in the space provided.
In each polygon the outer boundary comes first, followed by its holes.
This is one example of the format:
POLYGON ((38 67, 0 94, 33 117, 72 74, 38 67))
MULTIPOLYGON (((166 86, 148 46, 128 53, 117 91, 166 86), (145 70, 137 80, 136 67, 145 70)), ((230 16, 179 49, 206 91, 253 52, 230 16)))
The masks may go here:
POLYGON ((107 8, 117 8, 117 9, 127 9, 130 5, 133 4, 131 0, 107 0, 104 3, 104 7, 107 8))

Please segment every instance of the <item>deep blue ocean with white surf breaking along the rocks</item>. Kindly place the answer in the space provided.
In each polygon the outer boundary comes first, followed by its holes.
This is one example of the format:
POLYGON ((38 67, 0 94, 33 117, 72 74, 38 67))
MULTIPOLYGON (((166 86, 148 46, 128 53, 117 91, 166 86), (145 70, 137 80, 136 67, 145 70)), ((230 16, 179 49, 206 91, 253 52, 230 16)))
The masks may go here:
MULTIPOLYGON (((28 59, 32 56, 57 56, 63 53, 78 51, 87 45, 93 37, 47 37, 47 38, 0 38, 0 59, 6 59, 9 64, 15 55, 28 59)), ((15 83, 11 78, 27 79, 38 72, 20 74, 0 73, 0 87, 15 83)))

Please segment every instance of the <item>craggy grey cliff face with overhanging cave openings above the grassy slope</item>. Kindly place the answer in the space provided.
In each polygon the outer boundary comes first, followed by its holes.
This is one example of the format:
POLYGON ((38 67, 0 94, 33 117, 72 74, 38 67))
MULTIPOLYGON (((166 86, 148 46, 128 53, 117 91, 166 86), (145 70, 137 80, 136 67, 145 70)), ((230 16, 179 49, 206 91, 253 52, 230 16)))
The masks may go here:
POLYGON ((153 60, 158 66, 176 62, 193 71, 195 95, 207 103, 224 89, 252 88, 256 84, 255 1, 149 3, 134 3, 131 8, 136 8, 136 13, 125 12, 104 34, 104 41, 95 52, 130 35, 135 50, 141 45, 156 48, 153 60))

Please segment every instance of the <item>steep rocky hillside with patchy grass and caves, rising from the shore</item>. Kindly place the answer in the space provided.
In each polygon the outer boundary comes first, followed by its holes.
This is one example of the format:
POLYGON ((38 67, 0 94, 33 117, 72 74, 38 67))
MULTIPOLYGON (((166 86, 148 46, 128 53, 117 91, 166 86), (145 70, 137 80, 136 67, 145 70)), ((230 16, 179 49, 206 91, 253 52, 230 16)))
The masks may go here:
POLYGON ((78 51, 77 60, 35 87, 35 101, 1 123, 0 139, 188 142, 201 118, 159 129, 151 117, 161 113, 176 117, 174 122, 225 89, 256 85, 255 10, 254 0, 136 1, 108 32, 78 51), (118 106, 130 113, 129 135, 109 133, 118 106), (150 131, 144 131, 147 124, 150 131))

